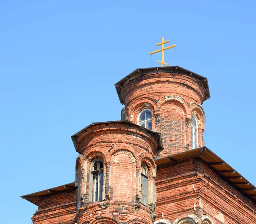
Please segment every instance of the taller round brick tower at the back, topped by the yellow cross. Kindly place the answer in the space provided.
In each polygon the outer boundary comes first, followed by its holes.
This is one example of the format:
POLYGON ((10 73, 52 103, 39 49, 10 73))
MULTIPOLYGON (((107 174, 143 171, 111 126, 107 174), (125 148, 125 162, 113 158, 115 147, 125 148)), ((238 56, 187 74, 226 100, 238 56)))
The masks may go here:
POLYGON ((160 157, 204 145, 207 78, 178 66, 137 69, 115 84, 122 119, 162 134, 160 157))

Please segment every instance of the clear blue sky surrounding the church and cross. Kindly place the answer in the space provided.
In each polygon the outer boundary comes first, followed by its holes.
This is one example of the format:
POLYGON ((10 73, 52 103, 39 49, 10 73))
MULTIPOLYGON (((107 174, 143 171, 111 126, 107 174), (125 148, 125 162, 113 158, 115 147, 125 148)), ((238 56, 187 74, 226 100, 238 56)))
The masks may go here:
POLYGON ((71 135, 120 119, 114 83, 170 65, 208 78, 205 145, 252 184, 255 175, 255 0, 0 0, 0 216, 28 224, 19 195, 75 180, 71 135), (166 46, 169 46, 166 44, 166 46))

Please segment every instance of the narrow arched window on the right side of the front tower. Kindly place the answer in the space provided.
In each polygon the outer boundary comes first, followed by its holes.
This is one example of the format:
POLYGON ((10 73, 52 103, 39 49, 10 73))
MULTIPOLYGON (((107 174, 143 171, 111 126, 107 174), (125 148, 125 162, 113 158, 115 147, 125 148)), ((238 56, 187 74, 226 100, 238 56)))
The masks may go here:
POLYGON ((145 163, 140 168, 140 202, 148 206, 148 167, 145 163))

